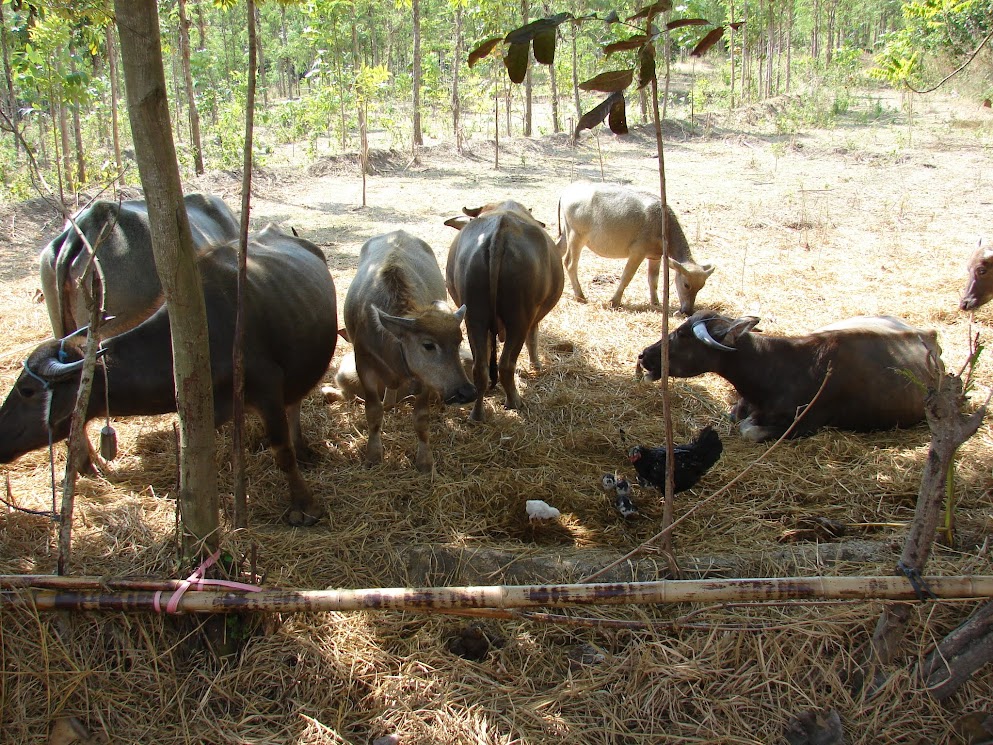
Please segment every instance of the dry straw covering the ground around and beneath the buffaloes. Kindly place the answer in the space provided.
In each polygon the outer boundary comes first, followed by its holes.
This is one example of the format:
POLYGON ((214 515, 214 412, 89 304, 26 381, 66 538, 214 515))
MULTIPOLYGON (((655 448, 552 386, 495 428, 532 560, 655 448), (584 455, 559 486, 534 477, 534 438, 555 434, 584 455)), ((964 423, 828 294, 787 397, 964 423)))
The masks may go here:
MULTIPOLYGON (((969 334, 988 340, 993 326, 991 311, 981 310, 970 325, 956 310, 965 259, 976 235, 990 230, 993 122, 939 99, 923 105, 928 110, 912 132, 894 112, 870 125, 794 137, 717 122, 707 136, 670 141, 671 201, 695 257, 718 266, 699 304, 759 315, 762 328, 776 334, 857 314, 897 315, 938 329, 945 362, 957 370, 969 334), (980 125, 954 126, 972 119, 980 125)), ((442 225, 446 217, 462 206, 514 197, 554 236, 562 186, 599 177, 597 144, 588 138, 575 149, 558 136, 510 141, 500 171, 488 161, 492 145, 470 147, 465 157, 429 149, 418 163, 372 177, 365 210, 355 209, 361 187, 353 175, 328 168, 294 177, 302 170, 273 166, 279 176, 257 200, 253 221, 293 224, 317 241, 340 300, 358 248, 372 235, 405 227, 428 240, 443 264, 454 235, 442 225)), ((642 132, 601 136, 607 178, 654 188, 651 147, 642 132)), ((233 183, 219 174, 190 186, 220 191, 236 204, 233 183)), ((10 240, 0 299, 5 389, 47 326, 43 306, 32 302, 33 257, 55 231, 36 210, 4 213, 10 240)), ((304 426, 323 455, 305 474, 328 506, 328 518, 315 528, 280 523, 284 480, 252 423, 251 528, 232 537, 232 545, 257 544, 268 584, 377 587, 575 581, 576 567, 605 562, 654 535, 661 519, 657 493, 636 490, 641 514, 624 520, 598 488, 602 473, 627 466, 621 428, 631 442, 662 438, 658 385, 633 375, 635 356, 658 338, 662 317, 646 303, 644 270, 624 306, 607 307, 620 270, 619 262, 584 254, 580 277, 591 302, 576 303, 566 287, 542 327, 543 371, 530 371, 522 356, 521 411, 505 411, 500 391, 490 395, 481 425, 471 425, 465 409, 435 411, 431 477, 412 467, 409 406, 387 413, 385 462, 370 470, 361 464, 361 405, 308 398, 304 426), (530 524, 527 499, 555 505, 561 520, 530 524), (425 550, 448 558, 426 563, 425 550), (477 561, 479 550, 503 558, 477 561)), ((993 383, 988 353, 977 379, 980 388, 993 383)), ((678 496, 679 515, 763 448, 742 442, 724 418, 731 390, 720 379, 674 381, 672 392, 677 440, 713 424, 725 442, 713 470, 678 496)), ((105 478, 78 485, 75 573, 174 576, 173 421, 115 422, 120 456, 105 478)), ((962 449, 959 543, 939 549, 930 571, 993 571, 990 441, 986 423, 962 449)), ((715 566, 754 576, 887 573, 901 525, 913 514, 927 443, 926 427, 822 432, 789 443, 683 522, 677 555, 687 567, 711 557, 715 566), (810 516, 849 523, 851 538, 872 549, 862 561, 841 562, 784 549, 777 538, 810 516)), ((224 430, 217 464, 226 498, 230 460, 224 430)), ((60 473, 63 463, 57 449, 60 473)), ((19 504, 50 505, 47 452, 7 470, 19 504)), ((0 514, 0 573, 52 571, 53 533, 43 517, 0 514)), ((908 669, 972 607, 917 608, 908 656, 873 698, 853 695, 847 685, 879 614, 872 603, 577 612, 670 622, 695 611, 676 631, 480 621, 494 642, 481 661, 448 650, 466 622, 446 616, 268 618, 236 659, 217 662, 188 643, 188 620, 5 613, 0 741, 44 742, 52 721, 76 716, 112 742, 364 743, 396 733, 403 743, 769 743, 781 740, 798 712, 835 707, 848 742, 955 742, 961 714, 993 707, 993 675, 981 673, 938 705, 908 669)))

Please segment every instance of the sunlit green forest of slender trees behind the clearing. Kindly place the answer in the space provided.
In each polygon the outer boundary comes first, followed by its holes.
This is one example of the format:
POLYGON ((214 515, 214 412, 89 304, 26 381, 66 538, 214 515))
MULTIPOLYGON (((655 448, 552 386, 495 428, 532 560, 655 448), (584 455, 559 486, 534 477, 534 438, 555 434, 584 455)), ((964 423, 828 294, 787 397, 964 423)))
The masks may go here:
MULTIPOLYGON (((165 0, 158 7, 180 168, 241 167, 245 4, 165 0)), ((362 116, 379 142, 412 151, 425 139, 461 150, 472 138, 571 132, 602 97, 580 90, 581 82, 630 67, 623 59, 630 52, 605 55, 604 47, 638 33, 637 22, 623 22, 636 10, 533 0, 260 3, 255 163, 265 166, 287 143, 303 146, 294 150, 301 160, 357 151, 362 116), (577 20, 557 27, 554 64, 531 64, 523 85, 504 74, 500 45, 467 64, 482 40, 562 11, 577 20), (604 22, 611 11, 621 22, 604 22)), ((111 3, 2 0, 0 14, 0 198, 33 196, 31 162, 63 198, 92 185, 136 185, 111 3)), ((687 59, 710 28, 726 33, 690 90, 664 93, 663 106, 683 106, 692 126, 698 113, 793 94, 777 122, 784 131, 829 124, 870 77, 929 86, 993 30, 993 7, 979 0, 691 0, 664 18, 669 26, 708 22, 666 32, 670 62, 687 59)), ((988 45, 954 85, 978 101, 993 96, 988 45)), ((647 111, 643 89, 629 102, 629 121, 647 121, 647 111)))

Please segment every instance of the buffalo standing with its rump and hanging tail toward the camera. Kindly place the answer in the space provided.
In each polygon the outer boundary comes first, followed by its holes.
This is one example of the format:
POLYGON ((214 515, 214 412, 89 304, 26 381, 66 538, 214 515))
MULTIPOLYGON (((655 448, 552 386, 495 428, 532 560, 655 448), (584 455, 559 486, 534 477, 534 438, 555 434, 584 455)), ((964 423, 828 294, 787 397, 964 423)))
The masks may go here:
POLYGON ((445 222, 459 231, 448 251, 446 275, 452 299, 467 308, 477 390, 471 417, 482 421, 487 365, 491 385, 499 373, 507 408, 521 405, 514 379, 517 358, 526 343, 531 366, 541 369, 538 323, 559 301, 565 278, 555 244, 522 205, 507 201, 462 211, 468 218, 445 222), (498 336, 503 340, 499 367, 498 336))

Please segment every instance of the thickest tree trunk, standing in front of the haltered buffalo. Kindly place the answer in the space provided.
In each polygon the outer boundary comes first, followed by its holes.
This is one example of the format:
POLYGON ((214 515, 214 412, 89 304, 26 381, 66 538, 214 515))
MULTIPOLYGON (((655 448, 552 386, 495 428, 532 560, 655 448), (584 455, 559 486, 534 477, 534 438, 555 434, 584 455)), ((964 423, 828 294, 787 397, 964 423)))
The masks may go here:
POLYGON ((155 268, 169 310, 180 424, 182 542, 189 560, 218 543, 207 316, 169 122, 157 6, 155 0, 114 0, 114 9, 155 268))

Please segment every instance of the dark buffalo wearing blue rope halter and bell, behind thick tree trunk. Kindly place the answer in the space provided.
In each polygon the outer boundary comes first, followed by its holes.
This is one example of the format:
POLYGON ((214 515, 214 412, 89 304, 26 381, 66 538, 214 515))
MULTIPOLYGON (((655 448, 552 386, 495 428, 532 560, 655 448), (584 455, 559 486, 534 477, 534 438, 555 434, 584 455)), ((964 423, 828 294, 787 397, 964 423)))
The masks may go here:
MULTIPOLYGON (((214 421, 231 416, 237 241, 212 246, 198 262, 203 280, 214 388, 214 421)), ((289 483, 287 519, 311 525, 324 508, 300 475, 307 450, 300 402, 327 371, 337 339, 334 283, 313 243, 272 225, 251 236, 245 288, 245 404, 261 416, 276 464, 289 483)), ((87 419, 176 410, 172 343, 165 306, 102 343, 104 376, 93 380, 87 419)), ((81 355, 58 340, 37 347, 0 407, 0 462, 69 435, 81 355)))

